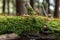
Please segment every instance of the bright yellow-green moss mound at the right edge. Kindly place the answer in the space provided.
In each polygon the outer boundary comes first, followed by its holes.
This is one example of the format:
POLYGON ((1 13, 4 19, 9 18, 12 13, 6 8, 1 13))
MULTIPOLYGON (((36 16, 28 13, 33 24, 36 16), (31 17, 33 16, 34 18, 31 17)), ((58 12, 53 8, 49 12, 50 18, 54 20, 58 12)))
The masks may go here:
POLYGON ((51 21, 48 21, 47 24, 48 24, 48 26, 50 27, 51 30, 60 32, 60 21, 51 20, 51 21))

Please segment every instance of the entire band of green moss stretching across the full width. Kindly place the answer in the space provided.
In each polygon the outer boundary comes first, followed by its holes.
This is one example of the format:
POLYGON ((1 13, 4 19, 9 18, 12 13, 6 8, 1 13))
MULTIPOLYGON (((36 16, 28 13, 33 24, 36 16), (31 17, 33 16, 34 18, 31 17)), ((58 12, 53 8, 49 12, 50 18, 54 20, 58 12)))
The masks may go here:
POLYGON ((36 17, 0 16, 0 34, 37 33, 38 31, 43 30, 44 25, 48 25, 51 31, 54 32, 60 30, 59 21, 56 20, 47 21, 40 16, 36 17))

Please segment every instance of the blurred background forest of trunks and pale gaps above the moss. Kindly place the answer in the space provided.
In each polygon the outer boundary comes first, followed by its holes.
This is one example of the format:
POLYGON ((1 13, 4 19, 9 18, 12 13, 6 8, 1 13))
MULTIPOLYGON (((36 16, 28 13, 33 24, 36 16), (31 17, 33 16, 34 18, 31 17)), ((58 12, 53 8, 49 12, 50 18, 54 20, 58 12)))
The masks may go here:
POLYGON ((1 0, 0 13, 11 15, 33 14, 60 18, 60 0, 1 0), (29 11, 31 11, 29 13, 29 11))

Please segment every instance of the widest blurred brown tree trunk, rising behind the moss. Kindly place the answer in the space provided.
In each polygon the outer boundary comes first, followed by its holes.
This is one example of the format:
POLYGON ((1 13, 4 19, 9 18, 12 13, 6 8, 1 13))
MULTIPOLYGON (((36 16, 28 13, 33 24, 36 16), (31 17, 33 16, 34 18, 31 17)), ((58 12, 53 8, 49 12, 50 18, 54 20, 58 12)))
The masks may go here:
POLYGON ((24 15, 26 14, 25 9, 25 1, 24 0, 16 0, 16 15, 24 15))

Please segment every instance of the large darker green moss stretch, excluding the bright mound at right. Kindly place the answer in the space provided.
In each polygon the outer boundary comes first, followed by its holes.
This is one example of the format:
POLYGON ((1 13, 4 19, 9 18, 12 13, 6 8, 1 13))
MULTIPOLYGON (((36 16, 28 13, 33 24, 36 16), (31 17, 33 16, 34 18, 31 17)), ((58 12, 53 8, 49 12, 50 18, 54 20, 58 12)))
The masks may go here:
POLYGON ((38 28, 43 26, 41 19, 37 20, 34 17, 0 17, 0 34, 6 33, 36 33, 38 28), (39 22, 39 23, 38 23, 39 22))

